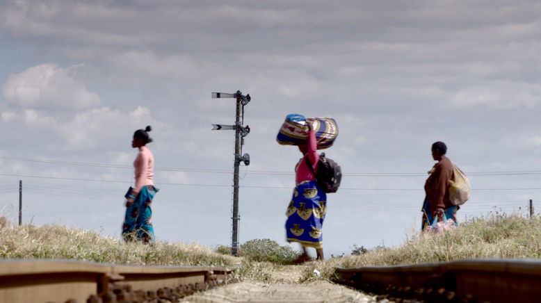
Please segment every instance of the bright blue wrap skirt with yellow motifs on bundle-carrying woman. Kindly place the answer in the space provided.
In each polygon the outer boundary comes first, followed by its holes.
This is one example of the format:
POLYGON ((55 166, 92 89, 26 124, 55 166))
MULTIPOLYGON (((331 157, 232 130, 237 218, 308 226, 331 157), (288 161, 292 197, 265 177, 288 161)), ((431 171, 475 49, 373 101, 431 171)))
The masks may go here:
POLYGON ((327 195, 316 181, 303 181, 293 190, 286 215, 286 238, 302 247, 323 248, 322 227, 327 195))

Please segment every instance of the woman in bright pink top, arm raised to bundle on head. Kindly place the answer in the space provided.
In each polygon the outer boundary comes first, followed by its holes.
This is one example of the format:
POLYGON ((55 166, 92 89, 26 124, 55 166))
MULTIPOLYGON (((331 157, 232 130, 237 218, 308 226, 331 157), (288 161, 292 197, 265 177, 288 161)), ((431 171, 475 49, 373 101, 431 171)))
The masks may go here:
POLYGON ((286 237, 288 242, 298 242, 302 255, 297 262, 310 260, 306 247, 316 249, 317 259, 323 260, 323 237, 321 228, 325 219, 327 196, 318 186, 315 173, 318 167, 316 134, 309 126, 307 144, 298 145, 302 158, 297 163, 296 187, 286 211, 286 237), (312 167, 310 167, 312 166, 312 167))

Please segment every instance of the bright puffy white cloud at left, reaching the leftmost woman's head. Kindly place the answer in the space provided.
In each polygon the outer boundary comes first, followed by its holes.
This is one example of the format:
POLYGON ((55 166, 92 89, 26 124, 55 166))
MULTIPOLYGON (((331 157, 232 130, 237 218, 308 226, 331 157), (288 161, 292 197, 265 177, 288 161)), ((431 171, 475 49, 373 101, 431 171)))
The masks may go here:
POLYGON ((1 121, 22 123, 26 136, 45 133, 60 149, 129 147, 131 134, 152 124, 150 110, 141 106, 133 110, 97 107, 101 98, 78 79, 82 68, 43 64, 11 74, 3 86, 6 104, 1 121))

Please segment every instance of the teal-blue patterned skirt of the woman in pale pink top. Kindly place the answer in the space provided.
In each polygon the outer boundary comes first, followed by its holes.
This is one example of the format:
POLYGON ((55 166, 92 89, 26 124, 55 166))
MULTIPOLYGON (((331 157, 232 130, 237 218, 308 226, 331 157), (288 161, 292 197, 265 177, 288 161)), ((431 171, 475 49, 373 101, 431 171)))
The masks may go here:
MULTIPOLYGON (((131 188, 126 195, 129 195, 131 188)), ((124 240, 142 240, 145 243, 154 243, 154 227, 152 227, 152 199, 158 193, 154 186, 143 186, 134 200, 134 204, 126 208, 122 236, 124 240)))

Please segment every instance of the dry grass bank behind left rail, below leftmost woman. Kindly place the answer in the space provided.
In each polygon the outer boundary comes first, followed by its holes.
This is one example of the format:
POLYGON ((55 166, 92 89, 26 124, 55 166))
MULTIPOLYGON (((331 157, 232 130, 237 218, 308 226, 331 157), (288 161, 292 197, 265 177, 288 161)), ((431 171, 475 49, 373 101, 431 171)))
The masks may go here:
POLYGON ((240 263, 234 256, 195 244, 124 243, 91 231, 58 225, 13 227, 0 220, 0 259, 76 259, 133 265, 215 265, 240 263))

